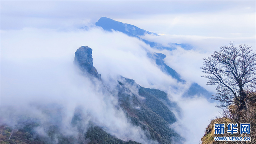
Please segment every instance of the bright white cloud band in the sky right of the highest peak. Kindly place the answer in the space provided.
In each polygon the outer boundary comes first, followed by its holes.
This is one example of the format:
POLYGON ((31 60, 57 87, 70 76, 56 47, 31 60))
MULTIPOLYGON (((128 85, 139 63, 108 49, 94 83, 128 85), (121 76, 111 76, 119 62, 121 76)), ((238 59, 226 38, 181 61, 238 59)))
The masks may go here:
POLYGON ((155 14, 140 18, 120 18, 117 21, 132 24, 155 33, 201 35, 208 37, 255 37, 255 12, 155 14))

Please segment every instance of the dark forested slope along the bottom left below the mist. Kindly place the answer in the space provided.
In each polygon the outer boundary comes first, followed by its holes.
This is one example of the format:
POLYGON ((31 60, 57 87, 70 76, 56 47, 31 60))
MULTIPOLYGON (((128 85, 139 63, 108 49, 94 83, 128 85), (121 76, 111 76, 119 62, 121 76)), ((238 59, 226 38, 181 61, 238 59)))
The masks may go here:
POLYGON ((98 126, 91 126, 86 134, 74 136, 64 136, 58 126, 50 126, 47 130, 47 138, 27 131, 11 129, 6 125, 0 126, 0 144, 44 144, 44 143, 89 143, 89 144, 140 144, 135 141, 123 141, 115 138, 98 126), (10 135, 12 133, 11 139, 10 135))

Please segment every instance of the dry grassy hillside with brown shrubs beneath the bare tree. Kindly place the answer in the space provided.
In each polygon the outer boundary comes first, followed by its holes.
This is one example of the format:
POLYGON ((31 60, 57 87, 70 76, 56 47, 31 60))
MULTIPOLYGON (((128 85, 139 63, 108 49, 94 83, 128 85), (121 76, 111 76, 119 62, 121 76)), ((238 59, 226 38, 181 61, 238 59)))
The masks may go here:
POLYGON ((232 105, 224 110, 223 117, 212 120, 201 138, 202 144, 256 144, 256 93, 250 93, 248 99, 247 110, 238 110, 237 106, 232 105), (238 124, 238 133, 227 133, 229 123, 238 124), (251 124, 251 134, 240 134, 239 126, 243 123, 251 124), (225 124, 225 133, 214 134, 214 124, 225 124), (251 141, 214 141, 214 136, 250 136, 251 141))

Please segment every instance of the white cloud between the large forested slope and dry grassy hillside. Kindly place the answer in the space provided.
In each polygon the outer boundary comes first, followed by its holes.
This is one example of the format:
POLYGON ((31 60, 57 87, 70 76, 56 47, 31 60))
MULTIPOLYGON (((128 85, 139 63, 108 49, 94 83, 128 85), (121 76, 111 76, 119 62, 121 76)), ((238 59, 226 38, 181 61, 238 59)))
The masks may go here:
POLYGON ((177 103, 182 107, 182 116, 171 127, 186 139, 185 144, 200 143, 213 116, 219 114, 215 109, 216 103, 202 98, 179 99, 177 103))

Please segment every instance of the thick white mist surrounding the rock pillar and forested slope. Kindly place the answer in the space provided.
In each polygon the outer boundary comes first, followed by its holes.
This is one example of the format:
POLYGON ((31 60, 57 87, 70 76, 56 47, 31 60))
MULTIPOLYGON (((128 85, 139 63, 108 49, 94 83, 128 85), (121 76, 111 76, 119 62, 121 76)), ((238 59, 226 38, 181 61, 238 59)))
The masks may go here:
MULTIPOLYGON (((218 114, 216 103, 203 98, 182 98, 190 83, 179 83, 163 73, 155 61, 147 57, 148 52, 159 51, 123 33, 106 32, 97 27, 88 31, 24 28, 1 31, 1 35, 2 124, 15 126, 19 117, 26 115, 40 119, 42 128, 37 132, 41 135, 45 135, 43 127, 58 124, 63 134, 77 136, 77 129, 70 123, 80 107, 85 115, 85 131, 91 120, 119 139, 155 143, 147 140, 140 127, 130 123, 122 109, 116 108, 113 93, 105 92, 98 80, 81 75, 74 66, 74 52, 82 45, 93 49, 94 66, 104 83, 114 86, 113 80, 122 75, 143 87, 167 92, 170 100, 177 102, 182 110, 181 114, 175 112, 178 121, 171 127, 184 136, 187 143, 197 143, 208 120, 218 114), (58 109, 61 114, 47 115, 45 107, 52 111, 58 109), (188 125, 191 120, 194 127, 188 125), (183 128, 187 131, 182 131, 183 128)), ((171 57, 167 55, 166 59, 171 57)))

